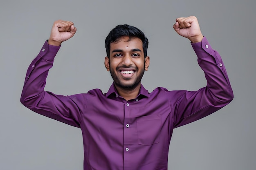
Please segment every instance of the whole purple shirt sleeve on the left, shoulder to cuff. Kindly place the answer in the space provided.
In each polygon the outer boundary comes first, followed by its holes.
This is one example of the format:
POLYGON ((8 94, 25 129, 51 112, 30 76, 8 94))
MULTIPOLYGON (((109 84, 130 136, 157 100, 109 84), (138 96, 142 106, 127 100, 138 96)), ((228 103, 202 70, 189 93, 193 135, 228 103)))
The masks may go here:
POLYGON ((81 108, 72 98, 44 91, 48 71, 53 66, 59 49, 60 46, 45 42, 40 53, 29 65, 20 102, 36 113, 80 128, 81 108))

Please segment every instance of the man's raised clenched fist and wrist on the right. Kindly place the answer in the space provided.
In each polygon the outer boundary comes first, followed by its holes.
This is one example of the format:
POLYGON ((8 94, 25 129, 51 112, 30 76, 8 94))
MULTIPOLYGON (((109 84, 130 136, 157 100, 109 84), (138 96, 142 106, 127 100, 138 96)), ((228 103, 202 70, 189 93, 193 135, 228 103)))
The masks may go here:
POLYGON ((204 38, 198 20, 194 16, 177 18, 173 28, 179 35, 188 38, 192 43, 201 42, 204 38))

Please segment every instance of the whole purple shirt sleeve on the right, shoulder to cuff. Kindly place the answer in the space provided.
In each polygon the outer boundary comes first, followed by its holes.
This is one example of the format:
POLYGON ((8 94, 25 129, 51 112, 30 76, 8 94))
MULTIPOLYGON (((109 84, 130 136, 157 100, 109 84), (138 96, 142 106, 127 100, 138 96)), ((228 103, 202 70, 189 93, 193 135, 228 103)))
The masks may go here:
POLYGON ((191 44, 198 64, 204 71, 207 86, 198 91, 184 91, 174 106, 174 127, 201 119, 229 104, 234 95, 227 71, 219 53, 211 48, 204 37, 202 42, 191 44))

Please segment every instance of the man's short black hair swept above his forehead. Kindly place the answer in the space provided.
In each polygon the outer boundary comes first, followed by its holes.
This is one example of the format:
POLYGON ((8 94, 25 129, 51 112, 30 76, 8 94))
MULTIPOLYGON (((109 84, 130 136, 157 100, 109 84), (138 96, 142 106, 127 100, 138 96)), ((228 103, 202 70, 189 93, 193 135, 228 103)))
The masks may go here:
POLYGON ((108 58, 110 57, 110 43, 119 41, 123 36, 128 36, 130 38, 129 40, 132 38, 139 38, 142 41, 144 57, 146 58, 148 51, 148 38, 146 38, 141 30, 128 24, 117 25, 106 37, 105 47, 108 58))

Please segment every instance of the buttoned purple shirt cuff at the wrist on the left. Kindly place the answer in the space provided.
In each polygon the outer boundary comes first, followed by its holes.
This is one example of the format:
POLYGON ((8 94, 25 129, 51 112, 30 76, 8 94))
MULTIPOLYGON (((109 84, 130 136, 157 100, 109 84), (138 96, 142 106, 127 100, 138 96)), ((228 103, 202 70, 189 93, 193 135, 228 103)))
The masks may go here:
POLYGON ((39 55, 45 60, 53 61, 60 48, 61 46, 49 45, 48 40, 46 40, 39 55))

